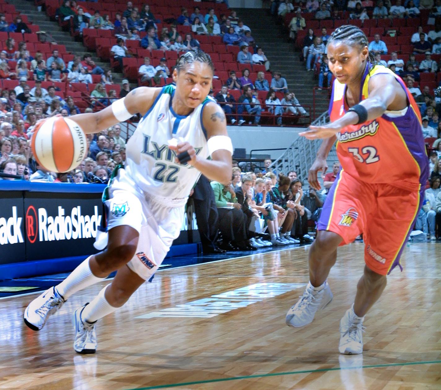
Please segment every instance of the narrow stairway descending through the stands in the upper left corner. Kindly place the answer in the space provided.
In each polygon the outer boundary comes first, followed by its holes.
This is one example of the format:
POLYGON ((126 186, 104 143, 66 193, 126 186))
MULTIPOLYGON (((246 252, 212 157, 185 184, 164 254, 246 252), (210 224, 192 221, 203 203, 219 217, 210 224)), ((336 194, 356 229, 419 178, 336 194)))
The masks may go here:
MULTIPOLYGON (((71 34, 67 31, 63 31, 62 28, 58 25, 57 22, 51 21, 49 16, 45 14, 45 12, 38 11, 38 8, 34 6, 34 4, 30 1, 26 0, 14 0, 13 4, 15 8, 20 11, 20 13, 27 15, 30 22, 33 24, 37 24, 40 26, 41 31, 48 32, 52 35, 54 40, 59 45, 65 45, 67 52, 75 55, 82 56, 83 54, 90 53, 87 51, 86 47, 82 44, 82 42, 75 41, 71 34)), ((96 57, 95 53, 92 54, 92 59, 95 61, 97 66, 106 69, 110 66, 109 63, 102 62, 98 57, 96 57)), ((122 73, 113 72, 114 82, 120 83, 124 76, 122 73)), ((132 88, 136 87, 136 85, 131 86, 132 88)))

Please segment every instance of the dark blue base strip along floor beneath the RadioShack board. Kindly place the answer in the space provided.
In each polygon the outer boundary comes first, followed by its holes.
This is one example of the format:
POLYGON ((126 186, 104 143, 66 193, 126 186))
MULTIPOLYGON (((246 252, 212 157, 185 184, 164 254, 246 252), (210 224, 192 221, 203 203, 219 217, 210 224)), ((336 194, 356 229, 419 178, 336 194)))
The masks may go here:
MULTIPOLYGON (((190 255, 198 253, 198 244, 174 245, 168 251, 167 257, 190 255)), ((0 264, 0 280, 30 278, 32 276, 60 274, 71 272, 87 255, 64 257, 61 259, 26 261, 23 263, 0 264)))

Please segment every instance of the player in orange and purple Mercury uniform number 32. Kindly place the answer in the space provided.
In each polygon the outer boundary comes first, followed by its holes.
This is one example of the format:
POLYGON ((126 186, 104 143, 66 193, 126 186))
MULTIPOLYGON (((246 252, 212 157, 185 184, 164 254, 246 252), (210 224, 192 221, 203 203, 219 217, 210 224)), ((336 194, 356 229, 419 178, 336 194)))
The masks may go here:
POLYGON ((307 139, 323 139, 308 181, 320 188, 318 171, 337 140, 341 172, 326 198, 309 252, 310 282, 288 311, 289 326, 312 322, 333 299, 326 281, 337 247, 363 233, 365 267, 355 302, 340 321, 339 351, 363 352, 363 320, 381 296, 386 275, 400 255, 424 199, 429 176, 421 116, 404 82, 376 65, 368 41, 356 26, 337 28, 328 40, 333 85, 331 122, 310 126, 307 139), (398 167, 396 165, 399 165, 398 167))

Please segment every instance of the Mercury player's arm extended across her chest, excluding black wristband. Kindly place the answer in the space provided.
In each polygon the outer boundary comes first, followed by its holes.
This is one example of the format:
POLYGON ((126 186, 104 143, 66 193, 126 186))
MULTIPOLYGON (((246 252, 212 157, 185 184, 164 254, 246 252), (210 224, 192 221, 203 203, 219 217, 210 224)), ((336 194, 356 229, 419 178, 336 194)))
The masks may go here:
MULTIPOLYGON (((402 110, 407 107, 407 95, 394 76, 374 75, 369 80, 369 97, 359 102, 367 112, 365 121, 370 122, 383 115, 386 110, 402 110)), ((303 135, 307 139, 320 139, 335 136, 342 128, 359 123, 359 115, 349 111, 340 119, 324 126, 310 126, 303 135)))

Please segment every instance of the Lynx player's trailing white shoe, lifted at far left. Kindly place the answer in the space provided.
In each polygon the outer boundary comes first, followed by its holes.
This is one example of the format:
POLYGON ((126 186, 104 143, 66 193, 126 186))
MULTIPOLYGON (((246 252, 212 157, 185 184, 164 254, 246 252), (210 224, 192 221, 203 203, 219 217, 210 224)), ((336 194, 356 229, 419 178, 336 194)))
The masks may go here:
POLYGON ((49 317, 63 306, 66 300, 57 292, 55 287, 47 289, 35 298, 26 308, 23 320, 32 330, 40 330, 49 317))

